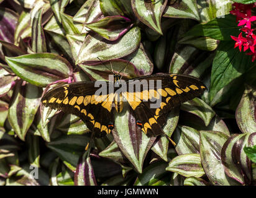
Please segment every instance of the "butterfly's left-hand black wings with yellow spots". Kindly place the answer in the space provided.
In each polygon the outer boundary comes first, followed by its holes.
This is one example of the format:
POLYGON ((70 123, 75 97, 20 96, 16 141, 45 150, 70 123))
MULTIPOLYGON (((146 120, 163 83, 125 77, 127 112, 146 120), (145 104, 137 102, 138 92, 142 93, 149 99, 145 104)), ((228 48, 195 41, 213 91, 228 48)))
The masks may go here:
POLYGON ((114 94, 95 95, 98 87, 94 82, 75 82, 53 88, 47 92, 42 103, 50 108, 80 117, 95 137, 102 137, 111 132, 114 122, 112 103, 114 94))

